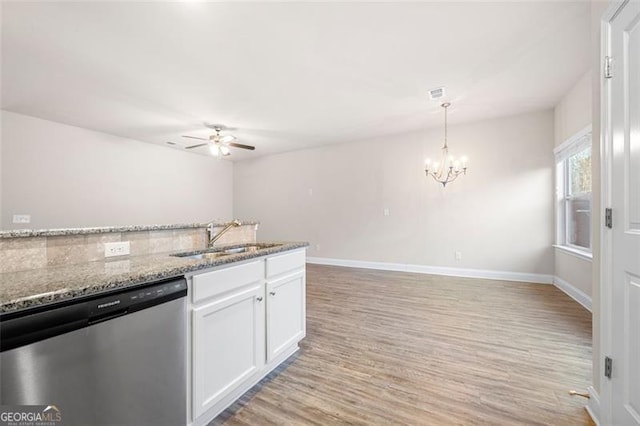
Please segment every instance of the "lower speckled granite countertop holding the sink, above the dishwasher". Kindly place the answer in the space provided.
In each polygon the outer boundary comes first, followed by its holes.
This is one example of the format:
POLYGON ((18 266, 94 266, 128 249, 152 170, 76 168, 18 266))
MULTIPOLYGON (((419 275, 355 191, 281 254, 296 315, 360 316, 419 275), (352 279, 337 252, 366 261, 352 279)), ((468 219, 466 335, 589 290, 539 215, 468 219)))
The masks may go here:
MULTIPOLYGON (((307 247, 306 242, 260 242, 274 245, 215 259, 189 259, 171 254, 133 256, 122 260, 86 262, 0 274, 0 314, 109 292, 172 278, 189 272, 307 247)), ((216 247, 229 249, 252 244, 216 247)))

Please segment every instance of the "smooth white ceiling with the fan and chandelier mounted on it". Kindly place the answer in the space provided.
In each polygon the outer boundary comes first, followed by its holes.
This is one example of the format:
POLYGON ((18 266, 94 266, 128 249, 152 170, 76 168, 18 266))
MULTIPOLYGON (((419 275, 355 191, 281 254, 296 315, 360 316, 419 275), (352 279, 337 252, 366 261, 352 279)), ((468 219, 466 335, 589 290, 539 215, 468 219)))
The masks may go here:
MULTIPOLYGON (((553 107, 589 67, 589 3, 2 4, 2 108, 253 158, 553 107)), ((206 150, 202 150, 205 153, 206 150)))

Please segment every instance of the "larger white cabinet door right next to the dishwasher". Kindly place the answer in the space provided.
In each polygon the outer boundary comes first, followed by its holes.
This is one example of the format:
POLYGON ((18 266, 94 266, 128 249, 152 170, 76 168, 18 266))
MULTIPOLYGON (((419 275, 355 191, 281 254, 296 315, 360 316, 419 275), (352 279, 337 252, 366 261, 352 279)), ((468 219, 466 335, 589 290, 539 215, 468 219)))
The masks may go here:
POLYGON ((257 373, 265 358, 264 286, 193 310, 193 417, 257 373))

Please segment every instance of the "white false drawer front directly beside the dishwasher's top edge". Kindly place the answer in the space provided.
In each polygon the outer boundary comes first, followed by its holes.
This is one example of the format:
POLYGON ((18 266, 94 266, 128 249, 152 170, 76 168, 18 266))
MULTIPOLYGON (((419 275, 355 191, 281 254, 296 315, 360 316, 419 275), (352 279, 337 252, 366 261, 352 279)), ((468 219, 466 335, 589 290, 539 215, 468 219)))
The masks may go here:
POLYGON ((193 276, 193 303, 262 281, 264 262, 230 266, 193 276))

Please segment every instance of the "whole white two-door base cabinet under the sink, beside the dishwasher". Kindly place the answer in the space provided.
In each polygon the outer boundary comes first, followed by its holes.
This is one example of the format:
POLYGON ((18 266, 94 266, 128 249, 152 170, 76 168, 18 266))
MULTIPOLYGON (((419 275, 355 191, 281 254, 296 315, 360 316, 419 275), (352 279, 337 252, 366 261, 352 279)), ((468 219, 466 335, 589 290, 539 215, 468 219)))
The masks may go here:
POLYGON ((190 285, 190 420, 199 426, 298 350, 305 250, 195 274, 190 285))

